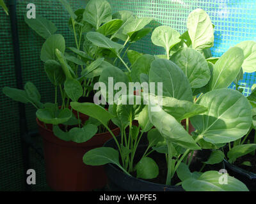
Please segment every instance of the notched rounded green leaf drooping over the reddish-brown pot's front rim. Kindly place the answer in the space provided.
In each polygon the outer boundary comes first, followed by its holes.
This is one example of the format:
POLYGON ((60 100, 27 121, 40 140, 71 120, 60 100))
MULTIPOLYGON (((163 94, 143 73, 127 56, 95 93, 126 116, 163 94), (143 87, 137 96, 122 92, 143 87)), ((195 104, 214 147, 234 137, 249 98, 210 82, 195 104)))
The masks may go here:
POLYGON ((70 138, 73 142, 83 143, 90 140, 98 131, 97 126, 88 124, 83 128, 72 128, 69 131, 70 138))

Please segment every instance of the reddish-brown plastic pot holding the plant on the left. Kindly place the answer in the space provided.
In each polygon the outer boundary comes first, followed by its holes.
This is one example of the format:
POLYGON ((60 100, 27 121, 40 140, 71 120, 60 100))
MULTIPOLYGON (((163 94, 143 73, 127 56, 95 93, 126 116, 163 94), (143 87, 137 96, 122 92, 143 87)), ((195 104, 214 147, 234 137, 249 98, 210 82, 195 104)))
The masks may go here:
MULTIPOLYGON (((82 122, 89 117, 79 114, 82 122)), ((39 133, 44 139, 44 157, 47 184, 55 191, 92 191, 106 185, 102 166, 87 166, 83 156, 88 150, 102 147, 112 136, 109 132, 93 136, 84 143, 60 140, 52 132, 52 126, 36 119, 39 133)), ((120 129, 110 127, 118 135, 120 129)))

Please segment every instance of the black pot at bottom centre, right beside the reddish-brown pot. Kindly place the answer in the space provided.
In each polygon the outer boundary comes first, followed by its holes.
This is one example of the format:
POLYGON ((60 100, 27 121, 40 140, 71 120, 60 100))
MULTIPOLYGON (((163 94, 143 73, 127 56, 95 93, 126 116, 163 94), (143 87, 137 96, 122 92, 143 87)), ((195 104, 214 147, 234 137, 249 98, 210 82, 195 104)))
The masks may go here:
MULTIPOLYGON (((116 149, 115 140, 113 138, 108 140, 104 147, 116 149)), ((138 148, 140 147, 143 148, 143 145, 140 145, 138 148)), ((114 164, 106 164, 104 168, 108 177, 110 191, 184 191, 181 186, 166 186, 131 177, 122 170, 119 170, 114 164)))

